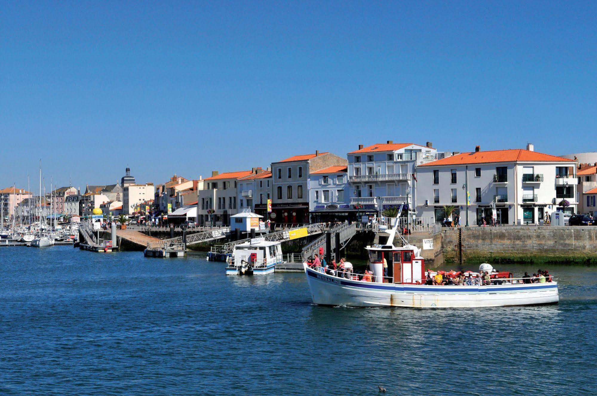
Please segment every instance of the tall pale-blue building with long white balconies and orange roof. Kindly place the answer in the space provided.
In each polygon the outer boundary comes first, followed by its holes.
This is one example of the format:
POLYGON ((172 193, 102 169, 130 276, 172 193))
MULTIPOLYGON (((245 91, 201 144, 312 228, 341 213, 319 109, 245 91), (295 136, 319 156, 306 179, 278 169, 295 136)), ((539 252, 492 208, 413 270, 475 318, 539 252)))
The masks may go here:
POLYGON ((347 156, 350 207, 361 214, 380 216, 385 209, 403 203, 412 211, 416 166, 441 159, 444 153, 438 153, 431 142, 421 146, 388 140, 368 147, 359 144, 358 150, 347 156))

